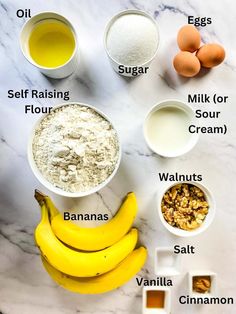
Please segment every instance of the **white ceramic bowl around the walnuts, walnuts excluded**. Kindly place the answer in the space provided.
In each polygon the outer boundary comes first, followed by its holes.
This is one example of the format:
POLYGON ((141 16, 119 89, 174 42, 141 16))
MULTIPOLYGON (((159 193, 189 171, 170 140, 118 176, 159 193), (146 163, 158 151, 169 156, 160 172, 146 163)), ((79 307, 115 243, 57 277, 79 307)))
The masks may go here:
POLYGON ((160 220, 163 224, 163 226, 170 231, 171 233, 173 233, 176 236, 179 237, 192 237, 192 236, 196 236, 200 233, 202 233, 203 231, 205 231, 206 229, 209 228, 209 226, 211 225, 212 221, 214 220, 215 217, 215 202, 214 199, 212 197, 212 193, 202 184, 198 183, 198 182, 175 182, 174 184, 171 184, 167 189, 164 190, 163 193, 160 193, 160 195, 158 195, 158 214, 160 217, 160 220), (177 227, 173 227, 171 225, 168 224, 168 222, 165 220, 162 211, 161 211, 161 201, 162 198, 164 196, 164 194, 173 186, 180 184, 180 183, 186 183, 186 184, 192 184, 197 186, 199 189, 201 189, 206 197, 206 201, 209 204, 209 209, 208 209, 208 214, 206 215, 203 223, 201 224, 200 227, 188 231, 188 230, 183 230, 183 229, 179 229, 177 227))

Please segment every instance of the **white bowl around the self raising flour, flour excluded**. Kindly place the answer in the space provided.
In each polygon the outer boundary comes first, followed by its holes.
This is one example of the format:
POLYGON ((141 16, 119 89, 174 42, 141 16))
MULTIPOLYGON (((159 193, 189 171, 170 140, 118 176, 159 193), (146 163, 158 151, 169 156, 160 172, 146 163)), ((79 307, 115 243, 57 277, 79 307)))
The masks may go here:
MULTIPOLYGON (((63 107, 63 106, 68 106, 68 105, 79 105, 79 106, 85 106, 88 108, 93 109, 95 112, 97 112, 98 114, 100 114, 102 117, 104 117, 114 128, 114 130, 116 131, 114 125, 112 124, 112 122, 110 121, 110 119, 100 110, 98 110, 97 108, 84 104, 84 103, 79 103, 79 102, 69 102, 69 103, 63 103, 57 106, 53 107, 53 110, 59 107, 63 107)), ((87 196, 90 194, 93 194, 99 190, 101 190, 102 188, 104 188, 110 181, 111 179, 115 176, 115 174, 117 173, 117 170, 119 168, 120 165, 120 161, 121 161, 121 144, 120 144, 120 139, 118 136, 118 132, 116 131, 117 134, 117 139, 118 139, 118 143, 119 143, 119 152, 118 152, 118 160, 115 166, 115 169, 113 170, 112 174, 102 183, 100 183, 99 185, 97 185, 96 187, 88 190, 88 191, 84 191, 84 192, 67 192, 64 191, 61 188, 58 188, 56 186, 54 186, 52 183, 50 183, 47 179, 45 179, 45 177, 42 175, 42 173, 39 171, 35 161, 34 161, 34 157, 33 157, 33 151, 32 151, 32 143, 33 143, 33 138, 34 138, 34 134, 35 134, 35 130, 37 129, 37 127, 39 126, 40 122, 49 114, 44 114, 35 124, 32 133, 30 135, 29 138, 29 143, 28 143, 28 161, 30 164, 30 167, 34 173, 34 175, 36 176, 36 178, 39 180, 39 182, 44 185, 48 190, 58 194, 58 195, 62 195, 62 196, 66 196, 66 197, 83 197, 83 196, 87 196)))

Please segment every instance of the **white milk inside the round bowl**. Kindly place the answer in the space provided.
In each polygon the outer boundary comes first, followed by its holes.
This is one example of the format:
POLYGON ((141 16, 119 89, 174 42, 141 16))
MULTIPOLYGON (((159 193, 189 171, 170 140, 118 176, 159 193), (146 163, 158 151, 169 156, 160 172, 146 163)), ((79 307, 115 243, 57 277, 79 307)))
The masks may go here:
POLYGON ((152 149, 163 155, 177 155, 191 140, 190 124, 191 118, 183 109, 174 106, 157 109, 146 124, 152 149))

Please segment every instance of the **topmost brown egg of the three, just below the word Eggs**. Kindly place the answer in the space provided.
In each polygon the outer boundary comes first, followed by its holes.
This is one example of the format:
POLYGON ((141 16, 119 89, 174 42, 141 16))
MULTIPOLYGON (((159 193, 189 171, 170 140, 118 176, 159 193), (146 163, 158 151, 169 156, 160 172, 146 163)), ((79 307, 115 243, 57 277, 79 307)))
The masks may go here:
POLYGON ((182 51, 194 52, 201 44, 201 35, 193 25, 181 27, 177 36, 179 49, 182 51))

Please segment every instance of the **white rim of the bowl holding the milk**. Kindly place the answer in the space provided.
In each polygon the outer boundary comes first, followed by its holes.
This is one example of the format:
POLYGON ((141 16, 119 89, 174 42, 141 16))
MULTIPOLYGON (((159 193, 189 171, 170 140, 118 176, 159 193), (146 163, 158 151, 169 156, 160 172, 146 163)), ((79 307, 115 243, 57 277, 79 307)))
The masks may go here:
POLYGON ((163 153, 161 151, 156 150, 151 141, 149 140, 148 134, 147 134, 147 125, 148 125, 148 120, 150 118, 150 116, 162 109, 162 108, 167 108, 167 107, 176 107, 179 108, 180 110, 185 111, 189 118, 190 118, 190 122, 191 123, 195 123, 195 125, 198 125, 197 119, 194 116, 194 110, 193 108, 188 105, 187 103, 183 102, 182 100, 179 99, 165 99, 162 101, 159 101, 157 104, 155 104, 154 106, 151 107, 151 109, 148 111, 148 113, 146 114, 145 118, 144 118, 144 122, 143 122, 143 134, 144 134, 144 138, 145 141, 147 143, 147 146, 149 147, 149 149, 151 149, 151 151, 153 151, 155 154, 159 155, 159 156, 163 156, 163 157, 169 157, 169 158, 173 158, 173 157, 179 157, 182 156, 186 153, 188 153, 190 150, 192 150, 194 148, 194 146, 197 144, 198 140, 199 140, 199 134, 198 133, 194 133, 191 134, 191 139, 189 140, 189 143, 184 147, 184 149, 180 150, 178 153, 163 153), (171 103, 173 103, 171 105, 171 103), (174 105, 174 103, 176 105, 174 105))

